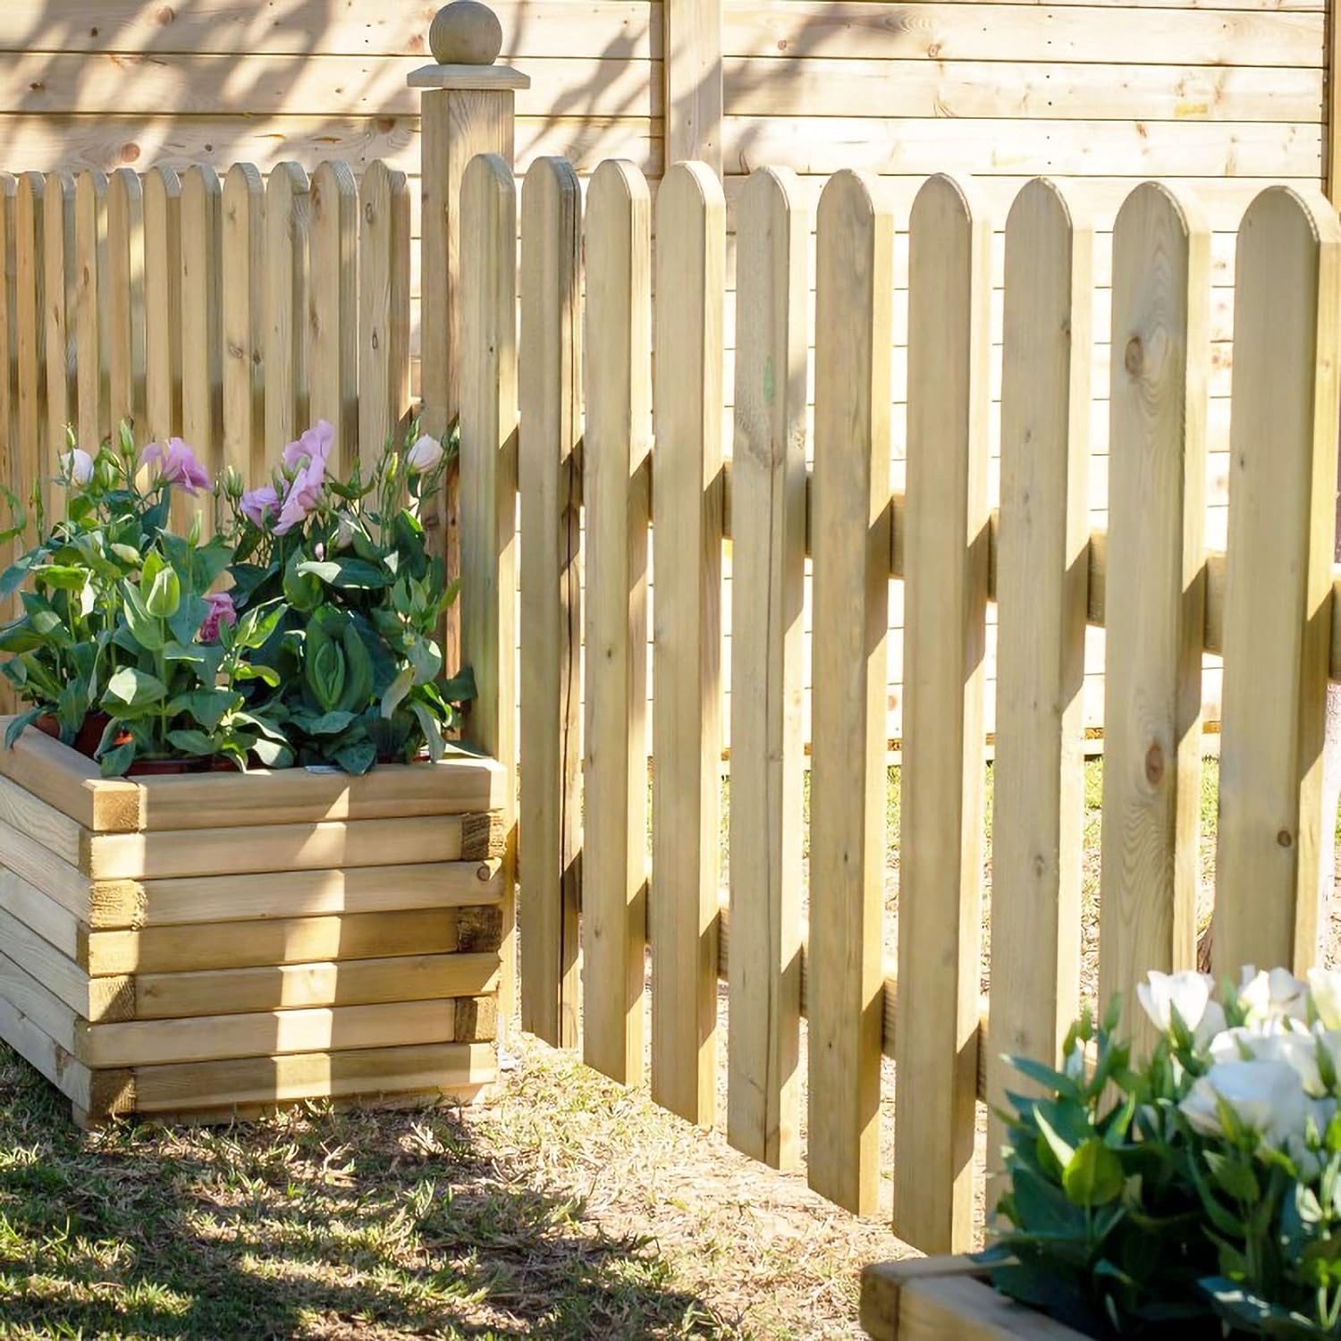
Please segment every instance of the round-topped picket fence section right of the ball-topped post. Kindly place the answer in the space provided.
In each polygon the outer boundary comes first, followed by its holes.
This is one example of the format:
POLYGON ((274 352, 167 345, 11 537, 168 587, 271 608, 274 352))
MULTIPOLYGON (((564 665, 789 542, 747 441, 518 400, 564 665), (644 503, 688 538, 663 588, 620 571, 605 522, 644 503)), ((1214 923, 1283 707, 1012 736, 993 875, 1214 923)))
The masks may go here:
MULTIPOLYGON (((1195 961, 1203 649, 1224 657, 1216 971, 1302 967, 1316 953, 1320 843, 1330 838, 1324 703, 1329 670, 1341 675, 1337 216, 1321 194, 1281 186, 1243 220, 1230 542, 1227 554, 1208 554, 1210 233, 1191 198, 1139 185, 1114 225, 1110 523, 1096 534, 1086 508, 1094 239, 1057 184, 1025 186, 1006 223, 996 512, 992 235, 971 184, 932 177, 912 211, 902 496, 889 464, 894 223, 874 178, 839 173, 819 197, 813 338, 813 221, 798 182, 770 169, 751 178, 736 227, 725 461, 716 177, 681 164, 656 197, 654 366, 653 207, 640 173, 602 164, 583 216, 573 169, 542 160, 520 198, 518 266, 512 174, 496 157, 471 162, 464 569, 492 594, 468 603, 464 620, 495 705, 516 701, 520 648, 520 740, 507 711, 489 739, 503 759, 520 744, 523 1027, 581 1045, 628 1084, 650 1051, 656 1101, 707 1125, 725 978, 731 1143, 780 1167, 805 1144, 811 1185, 858 1212, 877 1206, 881 1058, 892 1055, 896 1228, 928 1251, 960 1248, 974 1234, 976 1101, 1007 1082, 998 1054, 1055 1057, 1080 1002, 1086 624, 1108 629, 1101 996, 1130 998, 1145 970, 1195 961), (720 870, 728 539, 730 869, 720 870), (882 925, 892 579, 904 585, 907 625, 897 967, 884 960, 882 925)), ((1126 1022, 1140 1037, 1130 1008, 1126 1022)))

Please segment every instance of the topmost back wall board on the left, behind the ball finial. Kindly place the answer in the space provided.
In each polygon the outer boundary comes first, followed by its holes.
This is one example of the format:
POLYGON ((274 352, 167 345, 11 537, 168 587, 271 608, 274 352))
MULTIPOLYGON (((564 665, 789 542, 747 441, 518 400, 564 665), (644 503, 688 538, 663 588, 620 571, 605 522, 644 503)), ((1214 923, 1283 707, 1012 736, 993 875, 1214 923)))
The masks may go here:
MULTIPOLYGON (((433 4, 388 5, 385 0, 298 0, 282 16, 259 13, 255 0, 223 0, 208 8, 154 7, 142 0, 7 0, 0 8, 0 50, 257 54, 311 58, 351 55, 371 64, 394 55, 426 58, 433 4), (170 17, 165 19, 165 15, 170 17)), ((661 55, 658 0, 499 0, 506 60, 590 56, 642 59, 661 55)))

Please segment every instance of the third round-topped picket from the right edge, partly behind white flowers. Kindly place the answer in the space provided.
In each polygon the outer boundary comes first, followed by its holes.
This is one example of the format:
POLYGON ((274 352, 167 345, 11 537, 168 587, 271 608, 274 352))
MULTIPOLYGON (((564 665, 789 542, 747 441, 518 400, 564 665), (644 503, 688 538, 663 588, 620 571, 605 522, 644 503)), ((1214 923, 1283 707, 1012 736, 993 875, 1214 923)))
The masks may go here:
MULTIPOLYGON (((1093 267, 1089 221, 1057 182, 1030 182, 1006 220, 987 1058, 996 1105, 1027 1085, 1000 1054, 1055 1061, 1080 1007, 1093 267)), ((990 1113, 988 1175, 1002 1136, 990 1113)))

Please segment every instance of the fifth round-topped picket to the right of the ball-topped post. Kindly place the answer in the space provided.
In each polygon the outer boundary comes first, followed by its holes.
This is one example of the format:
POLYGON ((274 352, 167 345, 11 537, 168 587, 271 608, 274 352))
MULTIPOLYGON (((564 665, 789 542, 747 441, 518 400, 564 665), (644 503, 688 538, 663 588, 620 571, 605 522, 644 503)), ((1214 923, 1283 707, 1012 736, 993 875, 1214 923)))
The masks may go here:
POLYGON ((740 198, 732 459, 727 1134, 774 1168, 801 1137, 801 882, 810 212, 786 169, 740 198))

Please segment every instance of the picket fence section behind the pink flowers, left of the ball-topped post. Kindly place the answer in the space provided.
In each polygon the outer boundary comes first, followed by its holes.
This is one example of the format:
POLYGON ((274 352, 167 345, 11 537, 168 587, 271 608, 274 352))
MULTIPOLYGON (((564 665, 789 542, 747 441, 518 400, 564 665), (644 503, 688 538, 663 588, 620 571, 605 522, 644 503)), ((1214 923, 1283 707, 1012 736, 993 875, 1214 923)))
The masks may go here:
POLYGON ((409 409, 410 197, 385 164, 0 173, 0 479, 20 495, 67 425, 89 449, 122 420, 180 434, 256 483, 319 418, 343 465, 409 409))

